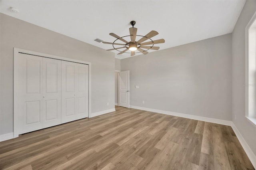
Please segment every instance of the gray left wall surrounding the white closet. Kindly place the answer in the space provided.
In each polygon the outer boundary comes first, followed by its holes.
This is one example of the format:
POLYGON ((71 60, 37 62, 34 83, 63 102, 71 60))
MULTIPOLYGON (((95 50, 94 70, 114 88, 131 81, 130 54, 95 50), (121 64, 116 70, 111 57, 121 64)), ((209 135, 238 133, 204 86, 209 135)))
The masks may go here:
POLYGON ((0 17, 0 134, 13 132, 14 47, 91 62, 92 113, 114 108, 114 53, 5 14, 0 17))

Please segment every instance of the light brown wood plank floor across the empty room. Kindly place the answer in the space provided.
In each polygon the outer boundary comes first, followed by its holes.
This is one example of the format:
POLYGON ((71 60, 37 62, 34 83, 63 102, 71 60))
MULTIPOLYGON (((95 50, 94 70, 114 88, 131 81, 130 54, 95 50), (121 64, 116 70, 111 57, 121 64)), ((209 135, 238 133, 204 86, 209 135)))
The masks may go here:
POLYGON ((229 126, 123 107, 0 142, 0 168, 254 169, 229 126))

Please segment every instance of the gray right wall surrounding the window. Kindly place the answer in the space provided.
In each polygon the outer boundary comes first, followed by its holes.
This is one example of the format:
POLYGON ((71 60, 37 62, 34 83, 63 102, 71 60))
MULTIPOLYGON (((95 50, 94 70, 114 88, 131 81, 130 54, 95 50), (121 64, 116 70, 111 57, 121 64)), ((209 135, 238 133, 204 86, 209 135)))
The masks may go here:
POLYGON ((256 154, 256 128, 245 118, 245 28, 256 12, 256 1, 246 1, 232 33, 232 121, 256 154), (236 116, 236 119, 235 119, 236 116))

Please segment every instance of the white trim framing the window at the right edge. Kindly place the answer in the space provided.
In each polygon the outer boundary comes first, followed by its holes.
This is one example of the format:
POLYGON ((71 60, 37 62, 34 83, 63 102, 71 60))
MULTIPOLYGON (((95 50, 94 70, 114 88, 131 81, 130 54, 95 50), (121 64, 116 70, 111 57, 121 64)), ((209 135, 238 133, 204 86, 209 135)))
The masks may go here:
MULTIPOLYGON (((245 28, 245 116, 248 117, 248 107, 249 107, 249 103, 248 103, 248 87, 249 87, 249 29, 252 26, 252 24, 254 23, 254 21, 256 20, 256 12, 254 13, 254 15, 252 16, 252 18, 250 19, 250 21, 248 22, 246 28, 245 28)), ((247 119, 250 123, 251 122, 249 119, 247 119)), ((255 124, 256 125, 256 124, 255 124)), ((254 125, 254 126, 255 126, 254 125)))

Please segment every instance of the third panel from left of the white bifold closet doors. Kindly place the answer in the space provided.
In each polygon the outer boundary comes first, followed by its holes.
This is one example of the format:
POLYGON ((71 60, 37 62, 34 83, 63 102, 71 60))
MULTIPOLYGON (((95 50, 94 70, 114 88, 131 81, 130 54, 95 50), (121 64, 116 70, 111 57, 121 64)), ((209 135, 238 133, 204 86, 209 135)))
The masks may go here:
POLYGON ((76 120, 76 63, 62 61, 61 123, 76 120))

